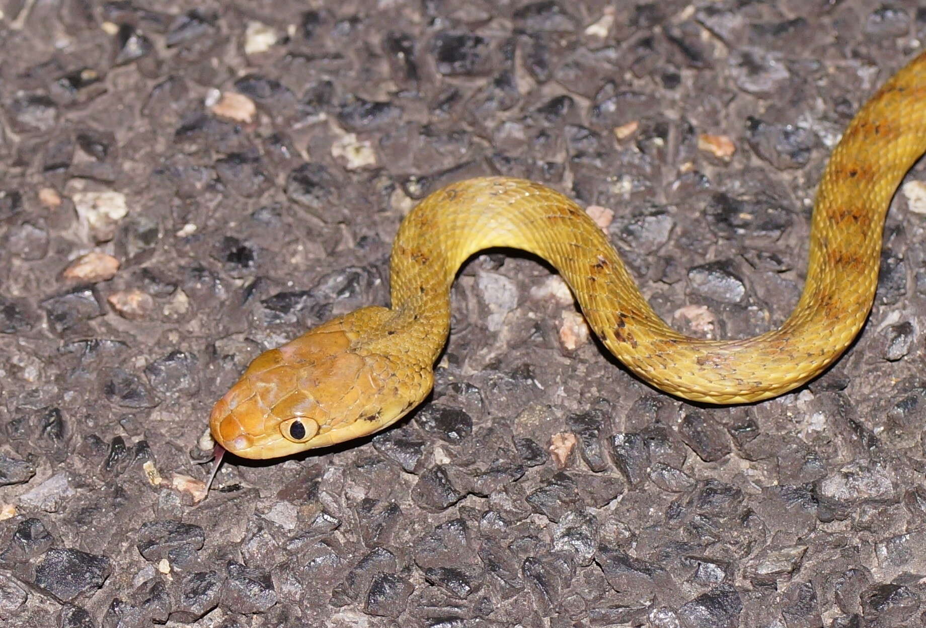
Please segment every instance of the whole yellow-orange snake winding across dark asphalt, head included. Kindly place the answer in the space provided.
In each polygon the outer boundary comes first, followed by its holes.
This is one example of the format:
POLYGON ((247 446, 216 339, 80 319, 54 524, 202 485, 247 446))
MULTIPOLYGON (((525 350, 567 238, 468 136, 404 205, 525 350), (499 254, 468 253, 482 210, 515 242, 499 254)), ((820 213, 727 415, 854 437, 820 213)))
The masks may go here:
POLYGON ((488 247, 543 257, 607 349, 645 382, 713 404, 757 401, 806 383, 868 317, 884 218, 926 150, 926 53, 886 82, 833 149, 817 192, 804 292, 779 329, 741 340, 672 330, 650 308, 581 207, 536 182, 447 185, 406 217, 391 258, 392 308, 360 308, 258 356, 210 417, 220 446, 276 458, 374 433, 432 389, 450 332, 450 287, 488 247))

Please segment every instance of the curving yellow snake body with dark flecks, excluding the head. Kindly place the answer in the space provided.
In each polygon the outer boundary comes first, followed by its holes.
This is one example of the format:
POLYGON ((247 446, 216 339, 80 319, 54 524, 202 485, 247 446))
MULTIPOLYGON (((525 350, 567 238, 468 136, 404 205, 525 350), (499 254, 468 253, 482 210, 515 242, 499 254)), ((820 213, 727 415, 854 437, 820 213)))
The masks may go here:
POLYGON ((838 358, 864 324, 877 287, 882 227, 904 174, 926 150, 926 54, 887 82, 835 148, 814 209, 807 282, 781 328, 710 341, 672 330, 646 303, 584 211, 538 183, 489 177, 422 201, 392 257, 394 329, 433 360, 449 331, 459 266, 493 246, 544 257, 563 275, 607 348, 646 382, 688 399, 778 396, 838 358))

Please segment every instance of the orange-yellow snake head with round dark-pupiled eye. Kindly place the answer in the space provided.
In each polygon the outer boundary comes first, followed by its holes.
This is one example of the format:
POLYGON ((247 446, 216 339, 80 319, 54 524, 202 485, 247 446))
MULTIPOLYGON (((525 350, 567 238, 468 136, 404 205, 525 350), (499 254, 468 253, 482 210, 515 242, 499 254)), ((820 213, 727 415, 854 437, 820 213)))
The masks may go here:
POLYGON ((378 432, 417 405, 431 371, 412 370, 420 385, 409 387, 407 367, 357 348, 348 317, 257 356, 212 409, 219 445, 242 458, 289 456, 378 432))

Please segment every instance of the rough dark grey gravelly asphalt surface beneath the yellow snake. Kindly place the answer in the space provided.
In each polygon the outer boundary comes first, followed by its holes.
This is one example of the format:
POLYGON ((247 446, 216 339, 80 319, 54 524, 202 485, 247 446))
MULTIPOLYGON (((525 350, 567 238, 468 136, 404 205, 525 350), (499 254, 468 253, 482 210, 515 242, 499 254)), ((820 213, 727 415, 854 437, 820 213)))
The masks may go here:
POLYGON ((199 503, 183 480, 248 360, 385 303, 399 220, 458 178, 613 209, 679 328, 782 321, 828 151, 920 48, 917 5, 0 3, 0 622, 922 625, 906 195, 860 340, 795 394, 661 395, 582 342, 544 266, 492 254, 412 417, 232 460, 199 503))

